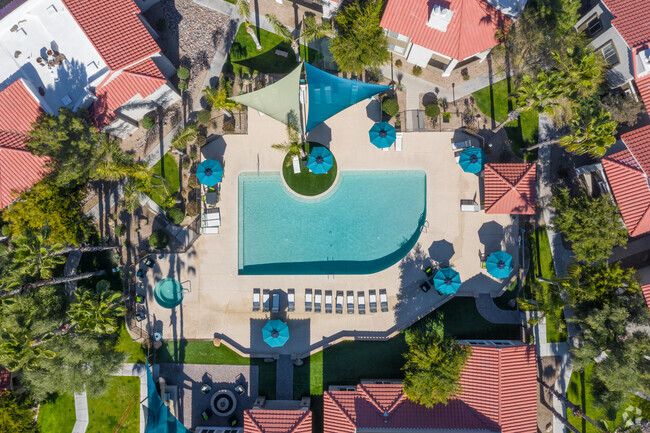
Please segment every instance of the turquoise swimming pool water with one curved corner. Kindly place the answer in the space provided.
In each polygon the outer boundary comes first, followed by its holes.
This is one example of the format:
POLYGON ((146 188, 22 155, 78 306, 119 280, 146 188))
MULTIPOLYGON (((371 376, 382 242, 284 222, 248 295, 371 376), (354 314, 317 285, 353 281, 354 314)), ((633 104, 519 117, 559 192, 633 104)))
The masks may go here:
POLYGON ((417 242, 424 171, 339 172, 315 199, 288 191, 280 176, 239 176, 240 274, 370 274, 417 242))

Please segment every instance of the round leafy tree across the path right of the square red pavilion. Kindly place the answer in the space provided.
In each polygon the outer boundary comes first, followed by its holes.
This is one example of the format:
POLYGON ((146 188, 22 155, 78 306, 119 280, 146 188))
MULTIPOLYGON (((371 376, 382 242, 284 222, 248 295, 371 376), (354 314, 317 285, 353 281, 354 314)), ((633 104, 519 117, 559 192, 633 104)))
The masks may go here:
POLYGON ((618 206, 609 196, 571 197, 567 188, 556 191, 553 225, 572 244, 576 260, 594 263, 607 259, 612 248, 627 243, 627 230, 618 206))

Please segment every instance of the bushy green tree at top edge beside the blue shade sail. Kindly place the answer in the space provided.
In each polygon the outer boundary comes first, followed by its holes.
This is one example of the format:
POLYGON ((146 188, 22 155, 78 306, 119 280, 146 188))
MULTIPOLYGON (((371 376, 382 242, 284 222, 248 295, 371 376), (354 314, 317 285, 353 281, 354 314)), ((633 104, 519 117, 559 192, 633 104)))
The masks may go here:
POLYGON ((361 74, 390 61, 388 41, 379 26, 383 2, 350 2, 334 18, 336 34, 330 51, 343 72, 361 74))

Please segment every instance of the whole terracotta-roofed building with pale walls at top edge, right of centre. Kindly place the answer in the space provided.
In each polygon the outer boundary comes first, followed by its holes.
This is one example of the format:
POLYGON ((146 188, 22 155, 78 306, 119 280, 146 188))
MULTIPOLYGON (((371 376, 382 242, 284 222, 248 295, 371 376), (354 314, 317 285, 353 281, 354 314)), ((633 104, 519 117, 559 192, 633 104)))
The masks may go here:
POLYGON ((381 26, 389 49, 442 76, 474 60, 484 60, 499 44, 495 34, 507 29, 525 0, 388 0, 381 26))

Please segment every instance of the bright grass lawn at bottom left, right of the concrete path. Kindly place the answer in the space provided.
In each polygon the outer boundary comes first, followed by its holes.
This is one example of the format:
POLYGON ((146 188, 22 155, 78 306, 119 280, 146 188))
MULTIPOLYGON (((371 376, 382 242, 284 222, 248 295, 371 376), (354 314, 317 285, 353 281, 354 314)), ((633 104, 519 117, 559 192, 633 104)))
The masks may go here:
MULTIPOLYGON (((140 378, 113 376, 110 379, 106 394, 98 398, 88 396, 89 432, 114 433, 124 410, 134 394, 140 393, 140 378)), ((138 433, 140 431, 140 398, 136 397, 135 404, 127 418, 122 422, 120 433, 138 433)))

